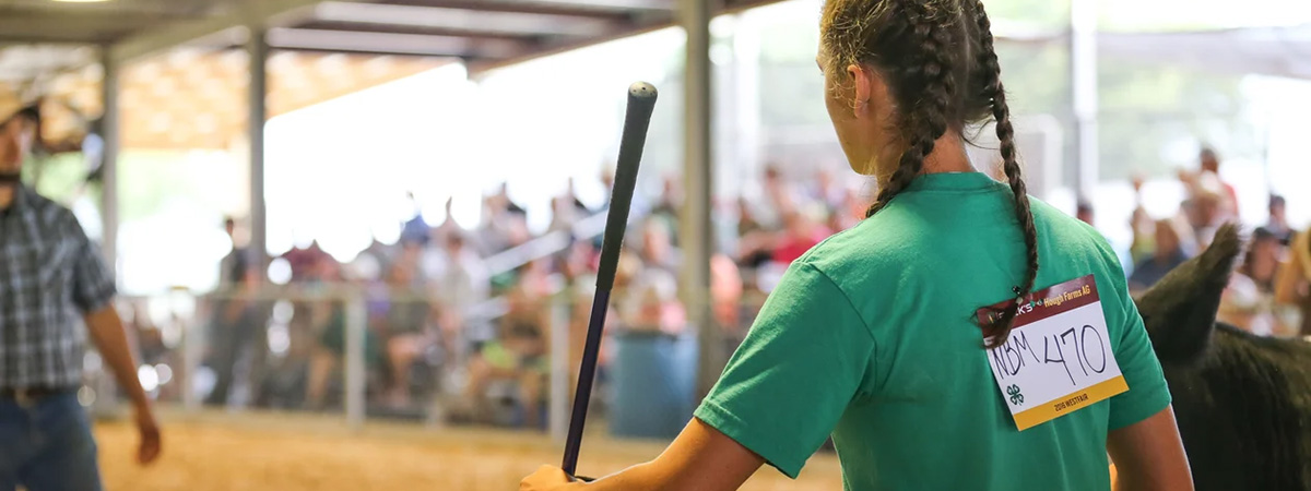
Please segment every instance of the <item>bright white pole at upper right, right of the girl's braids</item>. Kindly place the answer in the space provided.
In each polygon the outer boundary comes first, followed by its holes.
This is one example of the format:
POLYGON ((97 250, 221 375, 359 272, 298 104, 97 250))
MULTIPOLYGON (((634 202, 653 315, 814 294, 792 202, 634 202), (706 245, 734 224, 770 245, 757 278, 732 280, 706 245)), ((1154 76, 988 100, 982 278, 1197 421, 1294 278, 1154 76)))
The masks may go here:
POLYGON ((1097 155, 1097 0, 1070 1, 1070 68, 1075 127, 1075 195, 1092 200, 1097 155))

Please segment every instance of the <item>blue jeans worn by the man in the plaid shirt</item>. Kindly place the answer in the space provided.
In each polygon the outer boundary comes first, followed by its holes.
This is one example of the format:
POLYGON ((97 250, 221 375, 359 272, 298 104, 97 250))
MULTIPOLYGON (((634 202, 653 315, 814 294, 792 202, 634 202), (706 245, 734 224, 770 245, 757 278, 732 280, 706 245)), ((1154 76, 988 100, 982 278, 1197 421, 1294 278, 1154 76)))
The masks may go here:
POLYGON ((0 491, 100 491, 90 416, 75 391, 0 399, 0 491))

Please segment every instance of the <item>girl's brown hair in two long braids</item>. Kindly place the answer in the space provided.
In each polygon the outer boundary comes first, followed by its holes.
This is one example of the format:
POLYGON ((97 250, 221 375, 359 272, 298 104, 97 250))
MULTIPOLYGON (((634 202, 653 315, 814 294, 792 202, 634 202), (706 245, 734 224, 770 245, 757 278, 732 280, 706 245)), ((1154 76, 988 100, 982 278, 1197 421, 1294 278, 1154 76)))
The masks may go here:
MULTIPOLYGON (((880 182, 867 217, 910 187, 948 131, 962 134, 966 124, 995 119, 1002 166, 1015 195, 1015 217, 1027 251, 1025 271, 1013 289, 1016 299, 1023 299, 1033 292, 1038 274, 1038 234, 991 30, 982 0, 827 0, 821 39, 829 69, 874 67, 899 109, 903 151, 891 177, 880 182)), ((1007 340, 1016 314, 1016 308, 1006 309, 985 326, 988 348, 1007 340)))

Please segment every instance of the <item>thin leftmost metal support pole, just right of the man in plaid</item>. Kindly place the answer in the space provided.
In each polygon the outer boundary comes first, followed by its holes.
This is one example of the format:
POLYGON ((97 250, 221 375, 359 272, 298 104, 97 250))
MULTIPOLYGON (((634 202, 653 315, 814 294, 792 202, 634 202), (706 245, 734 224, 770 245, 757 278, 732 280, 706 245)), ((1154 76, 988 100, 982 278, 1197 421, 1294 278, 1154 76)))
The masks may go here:
POLYGON ((118 131, 118 63, 109 55, 109 47, 101 48, 101 139, 104 149, 101 156, 101 254, 105 255, 105 264, 118 275, 118 149, 121 145, 118 131))

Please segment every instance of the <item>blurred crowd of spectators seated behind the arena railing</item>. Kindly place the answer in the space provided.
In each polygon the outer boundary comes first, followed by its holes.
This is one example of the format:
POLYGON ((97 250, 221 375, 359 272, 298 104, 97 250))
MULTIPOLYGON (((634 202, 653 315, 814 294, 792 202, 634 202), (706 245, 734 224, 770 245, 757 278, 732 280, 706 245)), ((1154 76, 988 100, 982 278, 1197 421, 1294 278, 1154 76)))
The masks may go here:
MULTIPOLYGON (((1202 152, 1200 166, 1179 178, 1186 196, 1176 213, 1152 217, 1139 206, 1133 215, 1133 261, 1125 268, 1134 292, 1198 254, 1222 224, 1239 216, 1236 191, 1219 178, 1214 152, 1202 152)), ((767 165, 750 181, 756 187, 714 206, 707 299, 680 295, 683 192, 676 177, 666 177, 661 192, 635 198, 607 339, 684 335, 695 327, 690 312, 708 306, 724 354, 730 352, 788 264, 857 224, 868 204, 868 192, 856 187, 865 182, 839 182, 829 169, 767 165)), ((611 177, 602 175, 602 183, 608 192, 611 177)), ((1134 185, 1141 202, 1141 179, 1134 185)), ((577 380, 608 198, 589 207, 570 181, 539 233, 530 230, 526 208, 505 186, 482 206, 482 220, 472 229, 450 217, 450 203, 437 224, 416 213, 395 244, 375 241, 347 263, 316 244, 295 247, 273 258, 290 270, 277 299, 256 295, 267 284, 249 253, 235 246, 222 263, 219 291, 208 297, 203 364, 214 376, 206 402, 340 407, 347 325, 358 316, 371 411, 541 428, 553 323, 568 325, 568 378, 577 380), (342 292, 363 292, 364 300, 353 310, 342 292), (233 402, 237 393, 246 395, 233 402)), ((1259 335, 1311 335, 1311 245, 1307 233, 1286 221, 1283 207, 1281 196, 1270 196, 1268 223, 1247 228, 1251 245, 1224 293, 1221 319, 1259 335)), ((1076 216, 1091 224, 1095 208, 1080 203, 1076 216)), ((239 244, 236 223, 225 228, 239 244)), ((607 340, 600 390, 611 352, 607 340)))

